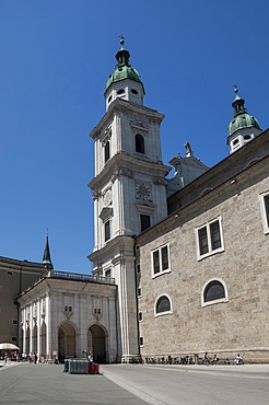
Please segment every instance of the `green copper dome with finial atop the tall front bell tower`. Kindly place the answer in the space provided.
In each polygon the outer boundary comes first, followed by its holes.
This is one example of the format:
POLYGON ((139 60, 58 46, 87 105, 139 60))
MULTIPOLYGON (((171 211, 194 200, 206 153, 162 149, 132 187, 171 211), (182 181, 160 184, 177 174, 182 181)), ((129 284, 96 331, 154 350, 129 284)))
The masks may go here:
MULTIPOLYGON (((121 40, 120 43, 122 45, 124 40, 121 40)), ((118 63, 116 65, 115 71, 109 76, 109 79, 107 80, 106 90, 109 88, 112 83, 125 79, 131 79, 137 82, 141 82, 140 74, 136 69, 131 67, 129 58, 130 58, 129 51, 121 46, 120 50, 116 55, 118 63)))

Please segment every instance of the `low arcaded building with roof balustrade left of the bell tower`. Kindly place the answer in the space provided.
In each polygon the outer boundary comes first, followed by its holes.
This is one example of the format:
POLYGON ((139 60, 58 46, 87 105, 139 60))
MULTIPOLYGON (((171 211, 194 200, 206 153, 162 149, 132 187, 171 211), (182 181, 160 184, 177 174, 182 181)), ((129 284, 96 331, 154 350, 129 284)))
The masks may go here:
POLYGON ((21 351, 117 361, 116 291, 113 279, 50 270, 17 298, 21 351))

